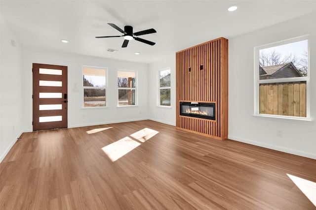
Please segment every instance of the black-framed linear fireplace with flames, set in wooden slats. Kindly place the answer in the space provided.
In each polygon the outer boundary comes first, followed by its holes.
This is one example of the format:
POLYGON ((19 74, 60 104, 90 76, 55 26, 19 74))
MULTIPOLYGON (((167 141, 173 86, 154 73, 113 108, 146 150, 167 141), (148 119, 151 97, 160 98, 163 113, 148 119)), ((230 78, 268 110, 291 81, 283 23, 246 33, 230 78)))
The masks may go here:
POLYGON ((180 115, 215 120, 215 103, 180 102, 180 115))

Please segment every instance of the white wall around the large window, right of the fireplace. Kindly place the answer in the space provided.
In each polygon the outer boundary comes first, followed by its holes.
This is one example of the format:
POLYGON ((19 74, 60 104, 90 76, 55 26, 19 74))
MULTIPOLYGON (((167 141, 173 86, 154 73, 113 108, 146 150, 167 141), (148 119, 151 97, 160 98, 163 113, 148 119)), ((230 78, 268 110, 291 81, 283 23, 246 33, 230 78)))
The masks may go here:
POLYGON ((316 13, 229 40, 229 138, 316 159, 316 13), (311 122, 256 118, 254 47, 310 34, 311 122), (282 137, 277 137, 277 130, 282 137))

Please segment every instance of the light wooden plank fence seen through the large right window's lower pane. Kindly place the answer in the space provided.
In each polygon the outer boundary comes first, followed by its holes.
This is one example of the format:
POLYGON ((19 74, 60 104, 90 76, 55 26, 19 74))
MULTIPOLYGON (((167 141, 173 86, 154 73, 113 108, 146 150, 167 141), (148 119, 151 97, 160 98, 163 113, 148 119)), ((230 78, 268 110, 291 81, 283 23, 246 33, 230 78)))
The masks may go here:
POLYGON ((259 112, 306 117, 306 82, 260 84, 259 112))

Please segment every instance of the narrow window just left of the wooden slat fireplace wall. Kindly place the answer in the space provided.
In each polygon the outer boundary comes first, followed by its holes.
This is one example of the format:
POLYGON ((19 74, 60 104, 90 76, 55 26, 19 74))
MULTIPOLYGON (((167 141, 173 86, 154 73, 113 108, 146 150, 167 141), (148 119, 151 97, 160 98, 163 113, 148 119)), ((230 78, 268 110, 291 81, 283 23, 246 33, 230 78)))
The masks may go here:
POLYGON ((170 68, 159 70, 159 106, 170 106, 170 68))

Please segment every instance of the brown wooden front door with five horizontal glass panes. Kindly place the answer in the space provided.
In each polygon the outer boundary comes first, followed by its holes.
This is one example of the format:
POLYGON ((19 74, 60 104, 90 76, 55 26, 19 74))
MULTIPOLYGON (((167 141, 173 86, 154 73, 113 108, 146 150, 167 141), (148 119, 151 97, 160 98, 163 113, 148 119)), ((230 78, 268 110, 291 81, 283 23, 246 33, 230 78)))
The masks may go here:
POLYGON ((33 63, 33 130, 66 128, 67 66, 33 63))

